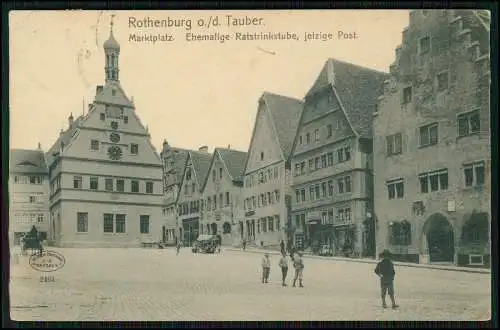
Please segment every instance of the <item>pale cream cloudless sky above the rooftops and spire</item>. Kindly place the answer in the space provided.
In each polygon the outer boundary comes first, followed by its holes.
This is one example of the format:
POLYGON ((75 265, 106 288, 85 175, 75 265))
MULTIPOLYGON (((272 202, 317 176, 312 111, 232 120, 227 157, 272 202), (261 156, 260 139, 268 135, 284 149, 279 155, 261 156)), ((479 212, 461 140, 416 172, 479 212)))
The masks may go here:
POLYGON ((87 111, 104 84, 112 15, 121 85, 158 152, 164 139, 180 148, 247 151, 264 91, 302 99, 329 57, 388 72, 409 19, 406 10, 10 12, 11 148, 40 143, 47 151, 69 115, 87 111), (228 26, 227 15, 260 24, 228 26), (184 21, 139 27, 147 18, 184 21), (339 31, 356 38, 341 39, 339 31), (234 40, 254 32, 295 33, 299 40, 234 40), (232 40, 187 41, 186 33, 232 40), (304 41, 305 33, 330 33, 333 40, 304 41), (165 34, 173 40, 130 40, 165 34))

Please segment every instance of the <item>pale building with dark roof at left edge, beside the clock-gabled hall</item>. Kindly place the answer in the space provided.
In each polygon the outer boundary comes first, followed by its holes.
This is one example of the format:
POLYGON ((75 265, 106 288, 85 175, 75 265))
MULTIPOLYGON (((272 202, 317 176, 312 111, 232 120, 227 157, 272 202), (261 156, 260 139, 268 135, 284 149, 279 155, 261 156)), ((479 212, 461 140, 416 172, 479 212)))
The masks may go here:
POLYGON ((49 171, 40 145, 37 150, 10 150, 9 196, 11 244, 19 245, 33 225, 42 239, 48 239, 49 171))

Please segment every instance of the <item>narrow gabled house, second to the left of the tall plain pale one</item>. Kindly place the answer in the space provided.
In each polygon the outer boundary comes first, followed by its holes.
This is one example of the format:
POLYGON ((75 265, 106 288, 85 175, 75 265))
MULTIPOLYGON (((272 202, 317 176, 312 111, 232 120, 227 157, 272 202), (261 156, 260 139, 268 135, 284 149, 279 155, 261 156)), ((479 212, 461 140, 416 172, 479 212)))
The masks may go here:
POLYGON ((212 154, 208 147, 188 151, 177 198, 179 236, 185 246, 191 246, 200 235, 203 197, 201 187, 208 175, 212 154))

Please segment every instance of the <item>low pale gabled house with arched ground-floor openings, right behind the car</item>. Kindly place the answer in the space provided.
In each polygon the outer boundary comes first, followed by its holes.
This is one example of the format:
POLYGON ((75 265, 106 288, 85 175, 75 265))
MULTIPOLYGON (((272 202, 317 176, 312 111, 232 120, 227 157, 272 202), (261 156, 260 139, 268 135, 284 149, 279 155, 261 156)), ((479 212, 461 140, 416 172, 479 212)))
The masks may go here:
POLYGON ((219 235, 223 245, 239 244, 242 237, 243 170, 247 153, 215 148, 202 185, 201 234, 219 235))

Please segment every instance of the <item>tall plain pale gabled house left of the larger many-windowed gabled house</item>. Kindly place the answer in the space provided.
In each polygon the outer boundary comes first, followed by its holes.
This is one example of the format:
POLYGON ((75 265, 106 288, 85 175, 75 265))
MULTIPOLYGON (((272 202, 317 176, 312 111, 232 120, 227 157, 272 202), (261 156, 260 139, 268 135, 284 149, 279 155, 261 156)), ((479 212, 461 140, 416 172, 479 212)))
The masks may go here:
POLYGON ((268 92, 259 99, 244 171, 245 221, 239 223, 249 243, 278 246, 286 239, 288 160, 302 105, 301 100, 268 92))

